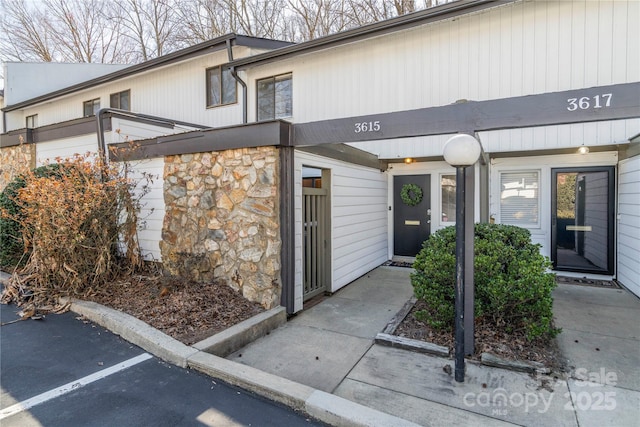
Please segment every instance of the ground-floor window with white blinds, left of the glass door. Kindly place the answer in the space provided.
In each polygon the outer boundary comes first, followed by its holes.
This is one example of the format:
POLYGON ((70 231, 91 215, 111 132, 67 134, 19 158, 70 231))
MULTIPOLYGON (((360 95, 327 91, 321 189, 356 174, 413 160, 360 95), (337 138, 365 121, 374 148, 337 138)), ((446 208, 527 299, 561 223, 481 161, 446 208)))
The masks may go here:
POLYGON ((518 226, 540 225, 540 173, 500 174, 500 222, 518 226))

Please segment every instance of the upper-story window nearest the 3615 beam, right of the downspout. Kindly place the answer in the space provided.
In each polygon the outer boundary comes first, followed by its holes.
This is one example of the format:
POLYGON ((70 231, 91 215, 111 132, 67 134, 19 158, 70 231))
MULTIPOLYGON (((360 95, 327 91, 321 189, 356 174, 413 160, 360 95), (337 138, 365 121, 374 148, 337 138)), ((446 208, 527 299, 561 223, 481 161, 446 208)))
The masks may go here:
POLYGON ((258 121, 293 115, 291 73, 258 80, 258 121))

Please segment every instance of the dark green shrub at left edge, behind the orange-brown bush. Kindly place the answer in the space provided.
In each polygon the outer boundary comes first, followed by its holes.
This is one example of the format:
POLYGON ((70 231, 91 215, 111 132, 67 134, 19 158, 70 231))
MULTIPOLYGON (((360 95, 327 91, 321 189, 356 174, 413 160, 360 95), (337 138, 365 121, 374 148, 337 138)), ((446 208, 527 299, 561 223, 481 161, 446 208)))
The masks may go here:
MULTIPOLYGON (((33 170, 33 175, 39 178, 60 177, 60 165, 40 166, 33 170)), ((0 268, 22 266, 29 258, 29 244, 25 245, 22 226, 16 221, 23 217, 16 200, 25 185, 25 176, 20 175, 0 192, 0 268)))

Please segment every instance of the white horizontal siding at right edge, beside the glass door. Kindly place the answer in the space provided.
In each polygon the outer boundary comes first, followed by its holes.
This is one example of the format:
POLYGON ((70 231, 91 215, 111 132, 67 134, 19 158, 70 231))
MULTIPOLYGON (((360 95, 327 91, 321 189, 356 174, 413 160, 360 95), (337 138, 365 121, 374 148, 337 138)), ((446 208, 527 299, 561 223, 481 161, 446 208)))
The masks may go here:
POLYGON ((640 156, 618 165, 618 281, 640 297, 640 156))

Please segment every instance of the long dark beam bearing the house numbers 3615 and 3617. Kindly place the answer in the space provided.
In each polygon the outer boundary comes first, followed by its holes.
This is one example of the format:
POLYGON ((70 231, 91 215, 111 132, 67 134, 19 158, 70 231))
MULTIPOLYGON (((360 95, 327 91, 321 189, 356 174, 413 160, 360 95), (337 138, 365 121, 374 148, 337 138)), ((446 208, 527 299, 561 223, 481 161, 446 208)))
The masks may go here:
POLYGON ((637 117, 640 82, 300 123, 293 132, 305 146, 637 117))

